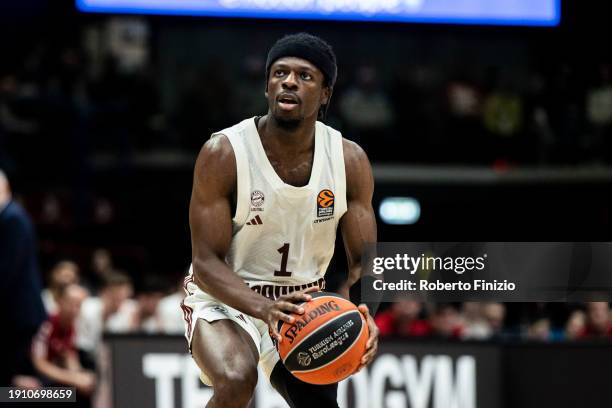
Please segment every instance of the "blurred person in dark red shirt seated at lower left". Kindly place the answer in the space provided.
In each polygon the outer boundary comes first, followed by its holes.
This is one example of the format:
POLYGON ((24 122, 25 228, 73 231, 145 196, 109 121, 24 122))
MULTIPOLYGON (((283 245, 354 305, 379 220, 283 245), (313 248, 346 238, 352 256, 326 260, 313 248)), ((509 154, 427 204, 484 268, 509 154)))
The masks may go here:
POLYGON ((82 369, 75 347, 75 322, 87 291, 76 284, 64 286, 57 299, 57 313, 40 327, 32 343, 32 361, 46 386, 76 387, 78 406, 88 406, 94 392, 93 372, 82 369))

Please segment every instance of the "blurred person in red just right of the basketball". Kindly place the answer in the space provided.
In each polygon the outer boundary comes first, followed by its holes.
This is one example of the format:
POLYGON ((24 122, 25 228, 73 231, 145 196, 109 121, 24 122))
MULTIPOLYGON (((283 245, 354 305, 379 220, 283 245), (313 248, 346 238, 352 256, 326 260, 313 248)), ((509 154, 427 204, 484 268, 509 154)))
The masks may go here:
POLYGON ((427 336, 431 327, 426 320, 420 318, 421 304, 412 300, 397 299, 391 307, 375 317, 380 330, 380 337, 427 336))

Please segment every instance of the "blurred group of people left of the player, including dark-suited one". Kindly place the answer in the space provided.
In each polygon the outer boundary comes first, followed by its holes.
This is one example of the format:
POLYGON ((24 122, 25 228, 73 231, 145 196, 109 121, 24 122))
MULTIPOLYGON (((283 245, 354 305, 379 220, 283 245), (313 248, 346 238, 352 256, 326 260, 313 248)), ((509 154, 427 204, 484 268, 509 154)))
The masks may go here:
POLYGON ((75 406, 88 407, 98 389, 104 335, 184 333, 182 278, 150 273, 135 280, 103 248, 92 251, 86 266, 62 259, 41 273, 38 241, 0 170, 0 322, 10 350, 0 385, 74 387, 75 406))

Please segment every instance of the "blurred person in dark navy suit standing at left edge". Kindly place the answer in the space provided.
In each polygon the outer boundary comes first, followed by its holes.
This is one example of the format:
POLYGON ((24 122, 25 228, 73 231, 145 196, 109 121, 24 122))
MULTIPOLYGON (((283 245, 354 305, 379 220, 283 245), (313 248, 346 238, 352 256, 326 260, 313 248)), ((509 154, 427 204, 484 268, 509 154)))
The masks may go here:
POLYGON ((12 199, 9 181, 0 170, 0 322, 8 333, 0 364, 0 385, 31 373, 29 345, 46 319, 40 293, 36 235, 25 210, 12 199))

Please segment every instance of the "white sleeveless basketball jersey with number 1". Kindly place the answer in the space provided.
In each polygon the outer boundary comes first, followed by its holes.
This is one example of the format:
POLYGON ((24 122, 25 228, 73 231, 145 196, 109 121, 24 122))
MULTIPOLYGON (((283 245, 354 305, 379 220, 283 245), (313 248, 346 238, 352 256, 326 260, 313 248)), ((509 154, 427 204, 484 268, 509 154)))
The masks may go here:
POLYGON ((342 135, 316 123, 310 181, 295 187, 270 164, 255 118, 219 134, 234 149, 238 180, 227 264, 266 297, 324 285, 338 222, 347 209, 342 135))

